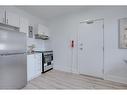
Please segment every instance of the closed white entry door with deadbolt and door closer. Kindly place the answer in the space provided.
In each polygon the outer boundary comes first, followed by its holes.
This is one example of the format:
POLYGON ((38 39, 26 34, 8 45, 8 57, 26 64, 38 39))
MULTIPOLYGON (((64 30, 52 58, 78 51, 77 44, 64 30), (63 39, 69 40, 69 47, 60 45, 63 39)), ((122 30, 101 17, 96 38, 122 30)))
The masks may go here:
POLYGON ((80 23, 78 64, 80 74, 103 77, 103 20, 80 23))

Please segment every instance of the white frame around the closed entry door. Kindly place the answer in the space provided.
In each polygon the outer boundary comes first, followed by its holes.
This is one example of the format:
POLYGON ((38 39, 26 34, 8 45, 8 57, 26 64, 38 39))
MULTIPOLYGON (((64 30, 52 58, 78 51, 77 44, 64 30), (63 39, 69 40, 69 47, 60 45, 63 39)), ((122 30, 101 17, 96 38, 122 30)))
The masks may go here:
MULTIPOLYGON (((105 47, 104 47, 104 18, 100 18, 100 19, 89 19, 89 20, 84 20, 84 21, 80 21, 79 22, 79 26, 80 26, 80 24, 83 24, 83 23, 87 23, 87 22, 90 22, 90 21, 102 21, 103 22, 103 25, 102 25, 102 28, 103 28, 103 67, 102 67, 102 78, 104 79, 104 74, 105 74, 105 69, 104 69, 104 57, 105 57, 105 47)), ((79 66, 80 66, 80 64, 79 64, 79 59, 78 59, 78 42, 79 42, 79 26, 78 26, 78 31, 77 31, 77 72, 78 72, 78 74, 80 74, 80 70, 79 70, 79 66)), ((85 74, 84 74, 85 75, 85 74)))

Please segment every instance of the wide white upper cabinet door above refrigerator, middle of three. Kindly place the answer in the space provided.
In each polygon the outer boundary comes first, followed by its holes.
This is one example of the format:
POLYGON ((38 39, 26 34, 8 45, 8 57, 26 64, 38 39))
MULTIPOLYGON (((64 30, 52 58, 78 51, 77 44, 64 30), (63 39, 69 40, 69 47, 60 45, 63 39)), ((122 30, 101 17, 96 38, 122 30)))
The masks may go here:
POLYGON ((8 11, 6 12, 6 24, 19 27, 19 20, 18 15, 8 11))

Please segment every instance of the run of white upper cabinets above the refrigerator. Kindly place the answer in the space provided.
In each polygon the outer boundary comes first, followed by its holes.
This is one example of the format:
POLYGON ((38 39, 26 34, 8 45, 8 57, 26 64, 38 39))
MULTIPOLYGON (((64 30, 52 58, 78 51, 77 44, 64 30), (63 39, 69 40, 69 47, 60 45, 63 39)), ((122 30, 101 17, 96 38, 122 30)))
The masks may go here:
POLYGON ((0 23, 16 26, 20 28, 20 32, 24 32, 28 36, 28 19, 21 17, 9 10, 0 9, 0 23))

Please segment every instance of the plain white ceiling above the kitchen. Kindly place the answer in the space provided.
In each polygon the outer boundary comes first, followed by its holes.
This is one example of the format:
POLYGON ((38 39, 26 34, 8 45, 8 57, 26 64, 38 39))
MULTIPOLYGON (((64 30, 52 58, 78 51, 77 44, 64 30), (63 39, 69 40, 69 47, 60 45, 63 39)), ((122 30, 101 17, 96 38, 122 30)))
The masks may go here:
POLYGON ((84 6, 17 6, 24 11, 41 19, 51 20, 55 17, 87 9, 84 6))

